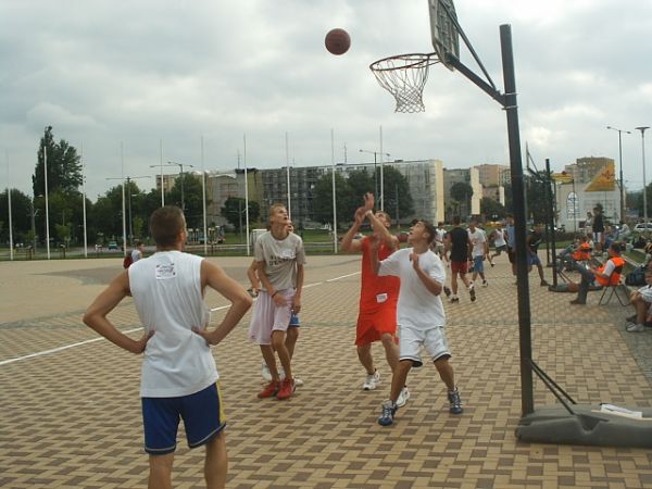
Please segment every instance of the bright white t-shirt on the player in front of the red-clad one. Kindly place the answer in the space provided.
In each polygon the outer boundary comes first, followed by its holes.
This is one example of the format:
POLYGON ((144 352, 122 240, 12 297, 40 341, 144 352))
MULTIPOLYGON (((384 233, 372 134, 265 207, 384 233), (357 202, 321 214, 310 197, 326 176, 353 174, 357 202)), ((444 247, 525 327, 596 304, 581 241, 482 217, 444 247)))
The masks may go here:
MULTIPOLYGON (((412 248, 394 251, 380 262, 378 275, 396 275, 401 278, 397 318, 399 325, 427 329, 446 326, 446 313, 441 297, 434 296, 416 275, 410 254, 412 248)), ((446 284, 446 268, 441 259, 428 250, 418 255, 418 266, 430 278, 446 284)))

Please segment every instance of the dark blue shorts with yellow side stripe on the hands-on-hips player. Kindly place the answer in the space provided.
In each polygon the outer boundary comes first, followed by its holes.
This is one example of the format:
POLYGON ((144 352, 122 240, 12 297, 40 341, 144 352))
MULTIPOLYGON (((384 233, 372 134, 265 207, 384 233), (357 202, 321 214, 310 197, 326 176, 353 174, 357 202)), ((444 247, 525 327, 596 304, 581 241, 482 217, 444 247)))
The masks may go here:
POLYGON ((179 398, 142 398, 141 404, 145 451, 150 455, 175 451, 179 418, 191 449, 206 443, 226 426, 218 384, 179 398))

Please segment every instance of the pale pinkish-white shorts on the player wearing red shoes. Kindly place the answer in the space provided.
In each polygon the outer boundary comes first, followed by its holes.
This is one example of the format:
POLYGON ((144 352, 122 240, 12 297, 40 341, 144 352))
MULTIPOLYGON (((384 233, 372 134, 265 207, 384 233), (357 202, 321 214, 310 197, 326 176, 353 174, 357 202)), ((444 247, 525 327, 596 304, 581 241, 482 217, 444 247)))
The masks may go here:
POLYGON ((286 299, 286 305, 278 306, 265 290, 261 290, 253 306, 249 324, 249 339, 256 344, 269 344, 272 331, 287 331, 292 313, 294 289, 279 290, 286 299))

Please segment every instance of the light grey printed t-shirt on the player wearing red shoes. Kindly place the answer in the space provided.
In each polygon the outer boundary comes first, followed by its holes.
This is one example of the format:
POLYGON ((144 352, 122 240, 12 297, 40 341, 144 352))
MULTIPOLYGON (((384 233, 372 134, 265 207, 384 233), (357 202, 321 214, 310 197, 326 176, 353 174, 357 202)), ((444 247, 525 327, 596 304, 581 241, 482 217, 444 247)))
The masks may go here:
POLYGON ((253 249, 256 262, 265 262, 265 274, 276 290, 297 287, 297 265, 305 263, 303 241, 289 233, 278 240, 272 231, 260 236, 253 249))

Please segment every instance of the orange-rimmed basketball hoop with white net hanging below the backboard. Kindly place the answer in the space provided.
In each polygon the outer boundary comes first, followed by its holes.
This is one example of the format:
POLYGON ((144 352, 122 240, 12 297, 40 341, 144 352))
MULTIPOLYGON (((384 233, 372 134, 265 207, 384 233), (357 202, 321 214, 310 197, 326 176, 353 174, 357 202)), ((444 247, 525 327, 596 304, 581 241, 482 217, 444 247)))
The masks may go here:
POLYGON ((439 63, 436 53, 398 54, 375 61, 369 65, 383 88, 397 101, 394 112, 424 112, 424 85, 430 65, 439 63))

